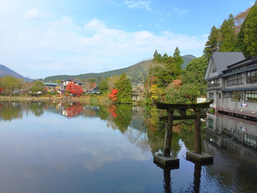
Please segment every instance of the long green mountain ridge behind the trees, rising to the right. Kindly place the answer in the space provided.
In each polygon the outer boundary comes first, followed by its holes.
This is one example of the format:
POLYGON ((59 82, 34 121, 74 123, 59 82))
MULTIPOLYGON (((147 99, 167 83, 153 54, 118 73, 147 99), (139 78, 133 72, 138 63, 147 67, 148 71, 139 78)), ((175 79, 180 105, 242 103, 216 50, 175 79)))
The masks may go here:
MULTIPOLYGON (((194 58, 196 58, 193 55, 185 55, 182 56, 184 63, 181 65, 182 70, 187 66, 187 64, 194 58)), ((101 72, 101 73, 87 73, 87 74, 79 74, 79 75, 56 75, 56 76, 48 76, 44 78, 45 82, 49 81, 55 81, 55 80, 67 80, 67 79, 85 79, 85 78, 97 78, 97 77, 102 77, 102 78, 107 78, 111 77, 112 75, 117 75, 120 76, 123 72, 127 73, 130 71, 131 68, 133 68, 135 65, 140 65, 140 63, 134 64, 132 66, 126 67, 126 68, 121 68, 117 70, 112 70, 112 71, 107 71, 107 72, 101 72)))

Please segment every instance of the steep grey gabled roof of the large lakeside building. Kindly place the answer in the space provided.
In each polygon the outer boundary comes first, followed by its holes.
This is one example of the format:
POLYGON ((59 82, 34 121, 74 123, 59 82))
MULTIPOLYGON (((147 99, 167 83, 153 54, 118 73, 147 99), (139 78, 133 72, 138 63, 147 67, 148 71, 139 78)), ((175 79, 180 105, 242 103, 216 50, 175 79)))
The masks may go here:
POLYGON ((214 52, 211 57, 219 74, 223 74, 222 71, 226 70, 227 66, 245 60, 242 52, 214 52))

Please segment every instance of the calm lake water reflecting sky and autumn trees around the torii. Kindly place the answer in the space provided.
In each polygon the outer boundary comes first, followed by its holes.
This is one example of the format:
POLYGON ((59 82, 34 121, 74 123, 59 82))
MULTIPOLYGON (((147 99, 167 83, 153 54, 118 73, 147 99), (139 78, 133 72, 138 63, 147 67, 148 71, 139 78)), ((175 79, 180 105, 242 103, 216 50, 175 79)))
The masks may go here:
MULTIPOLYGON (((0 192, 257 192, 256 122, 209 115, 203 152, 185 159, 194 124, 173 127, 179 167, 162 169, 165 115, 154 106, 0 101, 0 192)), ((174 121, 175 122, 175 121, 174 121)), ((192 120, 187 120, 191 123, 192 120)))

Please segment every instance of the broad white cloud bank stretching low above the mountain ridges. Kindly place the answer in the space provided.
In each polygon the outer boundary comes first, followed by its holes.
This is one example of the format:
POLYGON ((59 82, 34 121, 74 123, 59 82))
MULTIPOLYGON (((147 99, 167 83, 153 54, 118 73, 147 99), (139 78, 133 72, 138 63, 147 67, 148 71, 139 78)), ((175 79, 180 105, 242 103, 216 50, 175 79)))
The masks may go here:
POLYGON ((149 31, 126 32, 108 28, 97 18, 87 22, 84 30, 69 16, 36 23, 40 28, 3 32, 0 50, 2 64, 33 78, 120 69, 152 56, 155 49, 172 55, 178 47, 181 55, 199 56, 208 37, 170 31, 159 35, 149 31))

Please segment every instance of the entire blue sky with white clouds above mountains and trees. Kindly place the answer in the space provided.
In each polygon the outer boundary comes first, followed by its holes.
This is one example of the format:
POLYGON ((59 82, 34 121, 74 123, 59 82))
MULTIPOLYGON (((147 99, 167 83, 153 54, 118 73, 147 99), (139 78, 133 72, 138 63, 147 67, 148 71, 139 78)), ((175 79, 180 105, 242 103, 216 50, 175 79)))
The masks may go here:
POLYGON ((153 56, 199 57, 213 25, 254 0, 0 0, 0 64, 31 78, 99 73, 153 56))

